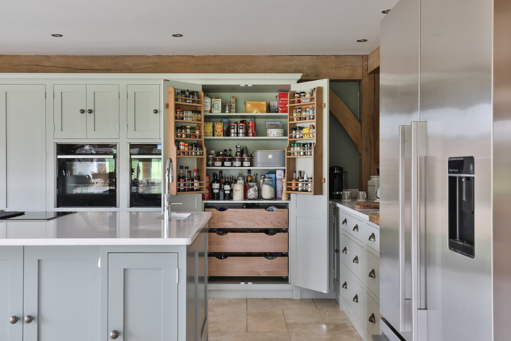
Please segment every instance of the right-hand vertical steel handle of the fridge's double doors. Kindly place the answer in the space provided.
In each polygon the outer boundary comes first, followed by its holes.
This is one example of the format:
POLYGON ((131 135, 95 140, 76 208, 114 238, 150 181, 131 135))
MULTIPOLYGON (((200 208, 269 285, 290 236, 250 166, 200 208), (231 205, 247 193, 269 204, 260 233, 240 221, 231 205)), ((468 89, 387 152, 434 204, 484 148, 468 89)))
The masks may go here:
POLYGON ((427 340, 427 311, 421 307, 420 287, 420 158, 427 155, 427 123, 411 123, 411 272, 412 272, 412 340, 427 340), (421 311, 420 311, 421 309, 421 311))

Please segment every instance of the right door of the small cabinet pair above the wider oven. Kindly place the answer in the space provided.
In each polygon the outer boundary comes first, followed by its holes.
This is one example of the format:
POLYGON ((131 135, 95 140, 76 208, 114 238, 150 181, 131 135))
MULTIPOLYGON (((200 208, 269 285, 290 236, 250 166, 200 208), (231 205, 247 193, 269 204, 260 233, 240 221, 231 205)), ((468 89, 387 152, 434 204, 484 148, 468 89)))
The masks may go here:
POLYGON ((119 139, 119 85, 87 85, 87 139, 119 139))

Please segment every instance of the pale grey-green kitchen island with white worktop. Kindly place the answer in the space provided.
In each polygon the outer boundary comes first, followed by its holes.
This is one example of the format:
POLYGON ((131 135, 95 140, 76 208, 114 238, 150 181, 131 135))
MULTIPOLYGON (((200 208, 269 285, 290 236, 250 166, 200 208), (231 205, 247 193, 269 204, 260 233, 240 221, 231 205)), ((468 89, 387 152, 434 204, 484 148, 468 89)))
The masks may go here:
POLYGON ((205 340, 211 213, 160 215, 1 221, 0 339, 205 340))

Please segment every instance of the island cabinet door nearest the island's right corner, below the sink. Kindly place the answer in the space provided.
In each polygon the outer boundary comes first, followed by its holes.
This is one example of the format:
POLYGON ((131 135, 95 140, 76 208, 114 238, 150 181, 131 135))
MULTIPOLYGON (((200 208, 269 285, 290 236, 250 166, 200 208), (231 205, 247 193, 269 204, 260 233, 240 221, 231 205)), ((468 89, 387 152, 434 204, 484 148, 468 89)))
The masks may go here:
POLYGON ((177 340, 177 258, 108 254, 108 333, 117 331, 118 341, 177 340))

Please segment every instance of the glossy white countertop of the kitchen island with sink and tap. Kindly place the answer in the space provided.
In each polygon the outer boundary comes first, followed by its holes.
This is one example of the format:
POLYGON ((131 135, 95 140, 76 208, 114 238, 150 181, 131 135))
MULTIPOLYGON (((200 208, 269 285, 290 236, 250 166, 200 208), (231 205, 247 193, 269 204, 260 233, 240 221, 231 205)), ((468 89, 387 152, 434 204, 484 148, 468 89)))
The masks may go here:
MULTIPOLYGON (((182 215, 184 212, 179 212, 182 215)), ((2 221, 0 245, 190 245, 211 212, 170 221, 160 212, 77 212, 49 221, 2 221)))

